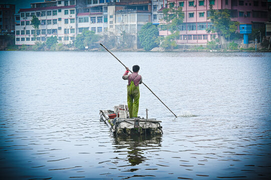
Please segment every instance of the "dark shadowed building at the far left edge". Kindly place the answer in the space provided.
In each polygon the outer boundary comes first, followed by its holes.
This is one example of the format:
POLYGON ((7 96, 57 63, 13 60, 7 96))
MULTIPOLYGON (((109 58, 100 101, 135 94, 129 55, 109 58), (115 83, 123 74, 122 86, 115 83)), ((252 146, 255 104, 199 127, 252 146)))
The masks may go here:
POLYGON ((14 14, 14 4, 0 4, 0 33, 15 31, 14 14))

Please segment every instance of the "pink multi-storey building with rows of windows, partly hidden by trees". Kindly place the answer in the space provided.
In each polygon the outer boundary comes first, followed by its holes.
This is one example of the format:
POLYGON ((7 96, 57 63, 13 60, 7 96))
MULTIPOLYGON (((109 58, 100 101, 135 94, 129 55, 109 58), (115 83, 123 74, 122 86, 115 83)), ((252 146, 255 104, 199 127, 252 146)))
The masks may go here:
MULTIPOLYGON (((216 36, 205 30, 212 25, 207 19, 209 4, 214 9, 230 9, 233 21, 252 24, 252 28, 264 27, 264 23, 268 22, 267 0, 167 0, 168 6, 181 6, 184 12, 177 43, 206 44, 213 35, 216 36)), ((169 33, 166 30, 159 31, 159 35, 169 33)))

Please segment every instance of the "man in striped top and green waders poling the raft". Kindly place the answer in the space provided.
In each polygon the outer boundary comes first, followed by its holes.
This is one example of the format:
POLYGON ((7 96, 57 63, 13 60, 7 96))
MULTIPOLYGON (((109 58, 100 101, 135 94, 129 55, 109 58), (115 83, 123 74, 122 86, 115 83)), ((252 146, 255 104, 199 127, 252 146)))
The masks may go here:
POLYGON ((138 106, 139 106, 139 84, 142 83, 142 77, 138 74, 139 66, 133 66, 133 73, 129 74, 129 68, 126 67, 126 71, 123 74, 122 78, 124 80, 128 79, 127 85, 127 103, 129 108, 130 118, 137 117, 138 106))

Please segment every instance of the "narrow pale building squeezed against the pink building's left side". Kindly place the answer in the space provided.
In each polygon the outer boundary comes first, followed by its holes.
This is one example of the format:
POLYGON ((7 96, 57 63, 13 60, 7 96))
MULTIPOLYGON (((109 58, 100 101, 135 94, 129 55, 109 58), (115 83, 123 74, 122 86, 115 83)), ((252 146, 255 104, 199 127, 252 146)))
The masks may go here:
POLYGON ((159 24, 159 20, 163 19, 163 13, 159 13, 159 9, 162 9, 167 4, 167 0, 152 0, 152 23, 159 24))

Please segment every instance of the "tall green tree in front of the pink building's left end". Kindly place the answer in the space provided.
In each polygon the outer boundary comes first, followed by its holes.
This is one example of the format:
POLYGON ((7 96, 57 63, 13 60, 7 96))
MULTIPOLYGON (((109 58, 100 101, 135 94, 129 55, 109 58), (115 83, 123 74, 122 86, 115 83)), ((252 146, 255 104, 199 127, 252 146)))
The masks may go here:
POLYGON ((179 25, 181 25, 184 18, 182 7, 174 8, 170 6, 169 8, 163 9, 163 14, 163 19, 167 23, 167 29, 170 30, 171 33, 173 33, 174 31, 178 31, 178 27, 179 25))

